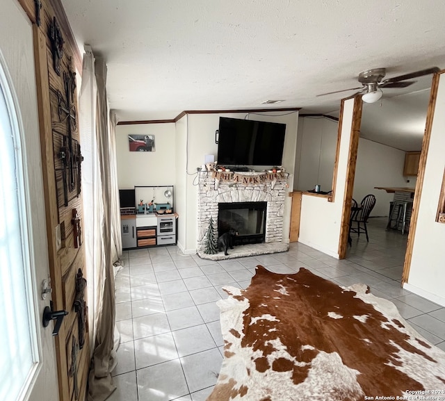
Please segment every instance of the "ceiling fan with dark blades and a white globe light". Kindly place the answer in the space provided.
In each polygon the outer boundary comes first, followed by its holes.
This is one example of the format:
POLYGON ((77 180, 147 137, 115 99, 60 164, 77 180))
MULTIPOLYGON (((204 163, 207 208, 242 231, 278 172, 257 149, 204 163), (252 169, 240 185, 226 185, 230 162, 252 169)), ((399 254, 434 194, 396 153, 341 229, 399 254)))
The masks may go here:
POLYGON ((420 71, 410 72, 410 74, 404 74, 399 76, 394 76, 394 78, 384 79, 386 75, 385 68, 373 68, 367 69, 366 71, 360 72, 358 81, 362 83, 362 86, 358 88, 349 88, 343 90, 336 90, 334 92, 323 93, 318 96, 332 95, 333 93, 346 92, 348 90, 359 90, 355 95, 363 94, 362 100, 366 103, 374 103, 378 101, 383 92, 380 88, 406 88, 407 86, 412 85, 416 81, 407 81, 407 79, 416 78, 418 76, 434 74, 435 72, 439 72, 440 69, 438 67, 430 67, 427 69, 421 69, 420 71))

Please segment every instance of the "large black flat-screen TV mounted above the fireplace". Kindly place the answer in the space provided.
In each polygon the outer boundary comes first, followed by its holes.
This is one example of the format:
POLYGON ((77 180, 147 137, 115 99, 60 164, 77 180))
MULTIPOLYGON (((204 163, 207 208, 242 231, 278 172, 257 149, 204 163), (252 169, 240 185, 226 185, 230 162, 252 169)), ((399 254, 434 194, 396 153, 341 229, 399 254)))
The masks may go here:
POLYGON ((220 117, 218 165, 282 164, 286 124, 220 117))

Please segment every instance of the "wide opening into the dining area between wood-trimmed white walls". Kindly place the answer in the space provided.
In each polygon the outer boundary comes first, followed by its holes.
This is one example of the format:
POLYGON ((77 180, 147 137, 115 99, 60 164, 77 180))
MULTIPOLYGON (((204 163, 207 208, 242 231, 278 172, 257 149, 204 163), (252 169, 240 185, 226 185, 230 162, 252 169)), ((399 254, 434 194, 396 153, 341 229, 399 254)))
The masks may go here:
POLYGON ((389 92, 381 101, 363 104, 353 199, 359 204, 364 196, 372 194, 376 204, 367 222, 369 242, 364 234, 352 234, 352 245, 344 255, 350 260, 359 258, 364 267, 400 281, 407 264, 410 220, 402 230, 403 208, 399 206, 405 204, 409 218, 416 192, 416 176, 406 174, 405 156, 407 152, 420 154, 423 146, 431 76, 419 81, 423 88, 418 85, 417 90, 401 95, 389 92), (388 224, 391 205, 395 208, 388 224))

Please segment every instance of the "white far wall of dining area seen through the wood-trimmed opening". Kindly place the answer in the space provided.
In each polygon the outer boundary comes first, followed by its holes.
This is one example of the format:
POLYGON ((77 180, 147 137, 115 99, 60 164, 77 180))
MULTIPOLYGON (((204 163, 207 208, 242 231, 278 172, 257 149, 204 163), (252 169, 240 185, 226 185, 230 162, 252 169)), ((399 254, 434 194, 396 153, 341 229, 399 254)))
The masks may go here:
POLYGON ((394 199, 394 193, 374 189, 375 186, 414 188, 415 180, 410 179, 410 183, 407 183, 407 177, 403 177, 404 163, 405 152, 364 138, 359 139, 353 198, 360 203, 366 195, 375 195, 376 202, 371 216, 387 216, 389 202, 394 199))

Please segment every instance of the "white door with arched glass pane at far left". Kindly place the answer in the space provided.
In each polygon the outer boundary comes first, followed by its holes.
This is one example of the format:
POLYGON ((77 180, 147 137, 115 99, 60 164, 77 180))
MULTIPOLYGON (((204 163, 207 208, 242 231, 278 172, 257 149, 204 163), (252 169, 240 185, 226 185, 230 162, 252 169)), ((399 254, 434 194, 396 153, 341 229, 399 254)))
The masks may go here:
POLYGON ((0 398, 15 400, 20 392, 20 399, 56 401, 52 328, 41 323, 50 297, 41 295, 49 263, 42 172, 35 170, 41 158, 33 31, 15 0, 4 1, 0 14, 0 138, 0 171, 8 177, 0 179, 0 398))

